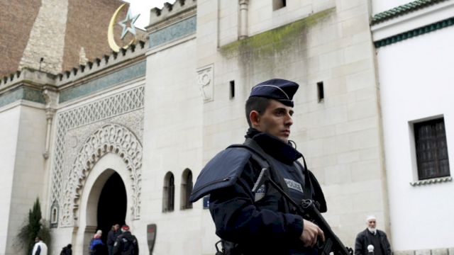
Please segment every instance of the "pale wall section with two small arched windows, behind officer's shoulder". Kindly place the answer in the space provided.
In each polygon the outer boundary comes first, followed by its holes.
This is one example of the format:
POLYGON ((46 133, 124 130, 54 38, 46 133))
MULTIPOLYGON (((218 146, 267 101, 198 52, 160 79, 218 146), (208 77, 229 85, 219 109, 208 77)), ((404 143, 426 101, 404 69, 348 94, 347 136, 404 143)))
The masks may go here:
POLYGON ((183 171, 191 170, 195 182, 201 169, 203 98, 197 83, 195 42, 194 35, 189 35, 171 47, 147 53, 143 209, 136 234, 146 245, 146 225, 157 225, 153 254, 203 254, 201 204, 180 208, 183 171), (162 212, 164 180, 169 171, 175 177, 175 210, 162 212))

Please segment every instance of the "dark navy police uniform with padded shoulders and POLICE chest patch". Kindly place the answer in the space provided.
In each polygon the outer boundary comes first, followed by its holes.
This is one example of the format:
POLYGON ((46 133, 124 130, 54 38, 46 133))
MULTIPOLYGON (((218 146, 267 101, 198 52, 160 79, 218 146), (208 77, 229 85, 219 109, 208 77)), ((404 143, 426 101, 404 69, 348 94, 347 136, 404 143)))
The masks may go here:
MULTIPOLYGON (((321 212, 326 203, 315 177, 297 162, 302 155, 276 137, 250 129, 253 139, 272 160, 271 178, 293 200, 316 200, 321 212), (298 166, 297 166, 298 164, 298 166)), ((253 186, 261 167, 248 149, 229 147, 216 155, 202 169, 191 199, 210 194, 209 209, 216 225, 216 234, 238 244, 240 254, 313 254, 299 239, 303 218, 272 186, 253 186)))

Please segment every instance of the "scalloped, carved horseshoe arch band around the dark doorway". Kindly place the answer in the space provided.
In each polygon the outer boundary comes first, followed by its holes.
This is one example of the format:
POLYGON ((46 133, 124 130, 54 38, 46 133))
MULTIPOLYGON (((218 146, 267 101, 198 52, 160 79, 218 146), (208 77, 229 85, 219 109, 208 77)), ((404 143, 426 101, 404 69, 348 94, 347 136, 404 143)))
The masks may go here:
POLYGON ((74 220, 77 220, 79 198, 87 176, 96 162, 107 153, 117 154, 126 164, 133 181, 130 198, 133 204, 131 215, 133 220, 140 218, 142 145, 128 128, 109 124, 90 135, 74 159, 63 195, 60 221, 62 227, 74 225, 74 220))

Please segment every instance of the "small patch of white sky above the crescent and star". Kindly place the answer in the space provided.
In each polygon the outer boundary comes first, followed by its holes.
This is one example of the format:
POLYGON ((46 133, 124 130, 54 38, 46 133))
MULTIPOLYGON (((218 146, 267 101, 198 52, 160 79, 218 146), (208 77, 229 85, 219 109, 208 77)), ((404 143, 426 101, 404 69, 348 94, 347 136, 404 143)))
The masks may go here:
POLYGON ((165 2, 175 4, 175 0, 123 0, 131 4, 131 14, 135 15, 140 13, 139 18, 135 21, 134 25, 137 28, 145 28, 150 21, 150 9, 162 8, 165 2))

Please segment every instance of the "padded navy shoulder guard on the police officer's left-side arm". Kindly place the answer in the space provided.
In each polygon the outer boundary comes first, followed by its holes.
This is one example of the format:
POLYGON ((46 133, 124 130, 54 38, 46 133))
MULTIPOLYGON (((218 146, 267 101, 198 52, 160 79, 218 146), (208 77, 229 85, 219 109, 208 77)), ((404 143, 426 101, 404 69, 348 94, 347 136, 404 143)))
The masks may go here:
POLYGON ((206 164, 197 177, 189 198, 191 202, 194 203, 219 188, 233 185, 248 163, 250 153, 243 148, 227 148, 219 152, 206 164))

